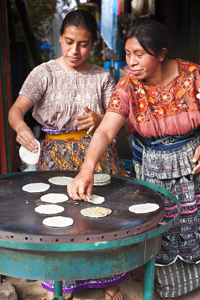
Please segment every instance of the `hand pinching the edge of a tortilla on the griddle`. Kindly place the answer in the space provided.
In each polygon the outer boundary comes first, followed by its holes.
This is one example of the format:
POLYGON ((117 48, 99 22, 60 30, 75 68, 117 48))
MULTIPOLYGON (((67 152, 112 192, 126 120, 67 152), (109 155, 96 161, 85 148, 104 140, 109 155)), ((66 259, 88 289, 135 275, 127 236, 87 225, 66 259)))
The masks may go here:
POLYGON ((69 196, 74 200, 87 200, 86 195, 92 198, 92 187, 94 184, 94 172, 81 170, 79 174, 67 185, 67 192, 69 196))

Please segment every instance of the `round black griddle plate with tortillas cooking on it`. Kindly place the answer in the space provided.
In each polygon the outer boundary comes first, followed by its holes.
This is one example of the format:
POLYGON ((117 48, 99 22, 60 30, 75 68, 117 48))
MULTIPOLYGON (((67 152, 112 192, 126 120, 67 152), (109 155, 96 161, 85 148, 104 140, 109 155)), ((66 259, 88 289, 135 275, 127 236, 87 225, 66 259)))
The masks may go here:
POLYGON ((142 233, 159 223, 164 215, 165 203, 159 193, 143 184, 112 176, 106 186, 94 186, 93 194, 103 196, 105 202, 95 205, 69 198, 56 203, 65 210, 59 214, 38 214, 34 208, 51 204, 40 200, 47 193, 67 193, 67 187, 48 181, 55 176, 75 177, 78 172, 42 171, 19 173, 0 178, 0 238, 12 241, 42 243, 86 243, 109 241, 142 233), (49 190, 28 193, 22 190, 25 184, 43 182, 50 184, 49 190), (28 204, 26 202, 28 201, 28 204), (156 203, 157 211, 148 214, 135 214, 129 206, 141 203, 156 203), (78 203, 78 204, 75 204, 78 203), (109 208, 112 213, 106 217, 90 218, 80 214, 80 210, 91 206, 109 208), (69 227, 49 227, 43 219, 53 216, 70 217, 74 220, 69 227))

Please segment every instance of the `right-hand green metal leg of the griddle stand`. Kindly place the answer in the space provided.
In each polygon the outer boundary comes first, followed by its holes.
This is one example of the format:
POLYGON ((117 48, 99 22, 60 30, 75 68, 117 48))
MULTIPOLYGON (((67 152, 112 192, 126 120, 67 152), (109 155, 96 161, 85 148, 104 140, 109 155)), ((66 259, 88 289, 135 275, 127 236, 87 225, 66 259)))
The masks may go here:
POLYGON ((155 271, 155 257, 145 264, 143 300, 153 300, 154 271, 155 271))

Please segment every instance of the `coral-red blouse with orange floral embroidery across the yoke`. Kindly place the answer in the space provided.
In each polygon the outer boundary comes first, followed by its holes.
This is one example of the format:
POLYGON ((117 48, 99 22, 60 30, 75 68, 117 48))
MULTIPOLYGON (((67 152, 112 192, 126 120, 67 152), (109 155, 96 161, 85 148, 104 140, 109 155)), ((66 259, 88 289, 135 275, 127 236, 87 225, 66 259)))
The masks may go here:
POLYGON ((179 58, 178 75, 164 87, 127 73, 116 85, 106 111, 128 117, 127 131, 142 137, 182 135, 200 125, 200 67, 179 58))

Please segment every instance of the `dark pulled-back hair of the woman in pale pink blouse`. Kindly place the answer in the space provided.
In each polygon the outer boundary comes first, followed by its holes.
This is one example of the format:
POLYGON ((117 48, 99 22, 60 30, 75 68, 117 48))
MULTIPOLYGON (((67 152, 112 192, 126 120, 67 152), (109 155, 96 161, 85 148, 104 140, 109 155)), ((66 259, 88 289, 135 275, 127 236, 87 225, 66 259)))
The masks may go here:
POLYGON ((61 25, 60 35, 62 36, 65 28, 71 25, 77 28, 83 27, 90 31, 92 35, 92 43, 97 41, 97 22, 93 15, 88 11, 77 9, 67 13, 61 25))

